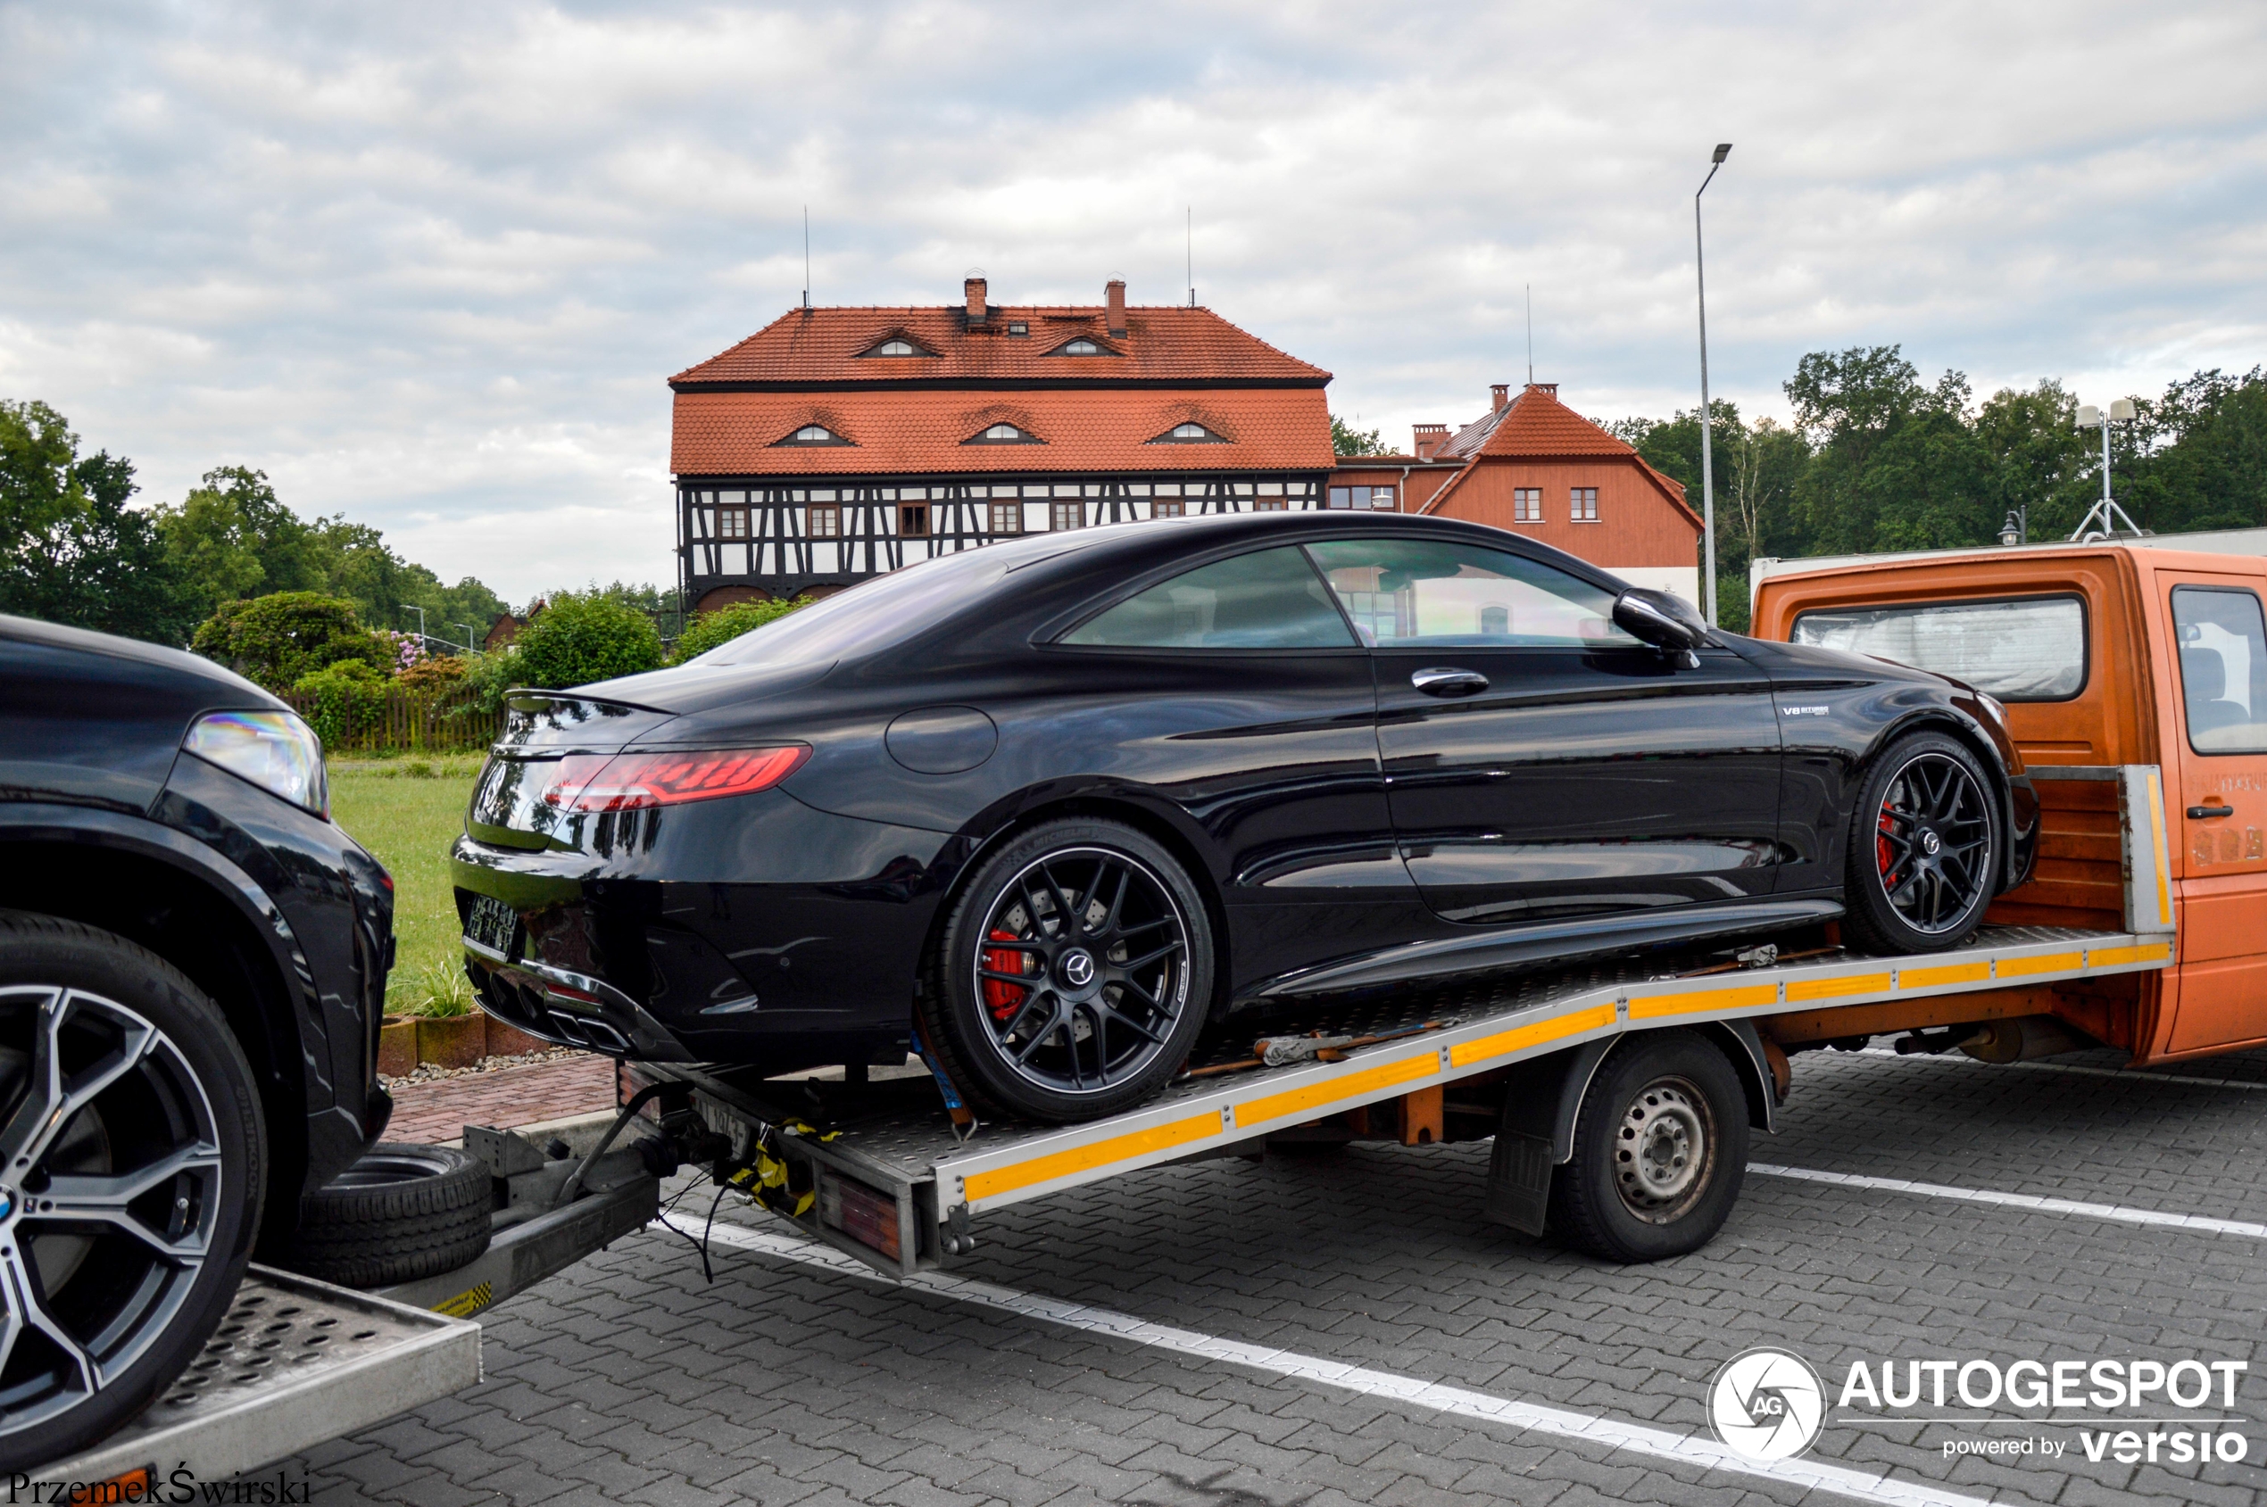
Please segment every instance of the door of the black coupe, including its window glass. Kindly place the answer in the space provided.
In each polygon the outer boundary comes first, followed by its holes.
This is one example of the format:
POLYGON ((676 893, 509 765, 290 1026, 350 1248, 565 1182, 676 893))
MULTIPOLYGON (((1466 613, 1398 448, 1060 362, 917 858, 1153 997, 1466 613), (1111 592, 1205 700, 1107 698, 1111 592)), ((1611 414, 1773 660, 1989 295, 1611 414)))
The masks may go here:
POLYGON ((1725 648, 1680 662, 1523 553, 1310 546, 1372 641, 1401 854, 1437 916, 1517 925, 1768 895, 1780 727, 1725 648))

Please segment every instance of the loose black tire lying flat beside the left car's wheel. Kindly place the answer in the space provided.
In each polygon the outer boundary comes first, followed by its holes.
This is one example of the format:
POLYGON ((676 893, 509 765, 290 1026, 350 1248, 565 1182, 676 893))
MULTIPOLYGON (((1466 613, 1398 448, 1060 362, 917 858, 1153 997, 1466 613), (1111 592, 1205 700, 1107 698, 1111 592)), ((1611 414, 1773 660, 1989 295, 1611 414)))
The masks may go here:
POLYGON ((487 1251, 487 1163, 381 1142, 299 1201, 290 1269, 340 1287, 440 1276, 487 1251))

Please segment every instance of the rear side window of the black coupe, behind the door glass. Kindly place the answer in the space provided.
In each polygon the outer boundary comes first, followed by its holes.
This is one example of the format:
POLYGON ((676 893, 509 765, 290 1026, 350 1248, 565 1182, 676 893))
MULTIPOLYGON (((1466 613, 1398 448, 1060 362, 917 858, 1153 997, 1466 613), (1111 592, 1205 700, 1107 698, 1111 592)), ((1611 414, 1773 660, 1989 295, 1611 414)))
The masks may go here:
POLYGON ((1199 564, 1063 635, 1106 648, 1351 648, 1347 621, 1297 548, 1199 564))

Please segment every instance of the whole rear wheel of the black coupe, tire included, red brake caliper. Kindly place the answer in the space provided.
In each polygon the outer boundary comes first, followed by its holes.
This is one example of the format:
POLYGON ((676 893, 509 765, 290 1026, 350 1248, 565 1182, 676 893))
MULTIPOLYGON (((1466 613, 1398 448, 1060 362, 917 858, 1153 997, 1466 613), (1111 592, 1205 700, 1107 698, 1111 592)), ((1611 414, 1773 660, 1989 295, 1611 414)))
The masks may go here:
POLYGON ((961 886, 920 1024, 979 1110, 1065 1124, 1165 1088, 1211 1004, 1213 927, 1188 872, 1124 823, 1068 818, 961 886))

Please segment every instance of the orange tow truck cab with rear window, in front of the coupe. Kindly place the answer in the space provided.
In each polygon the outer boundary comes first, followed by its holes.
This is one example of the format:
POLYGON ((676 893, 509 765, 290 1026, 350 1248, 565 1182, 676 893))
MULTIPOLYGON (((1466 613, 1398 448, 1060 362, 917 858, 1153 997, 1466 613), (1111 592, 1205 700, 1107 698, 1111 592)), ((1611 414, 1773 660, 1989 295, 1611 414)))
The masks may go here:
MULTIPOLYGON (((1752 632, 1938 671, 2006 705, 2038 780, 2040 857, 1990 925, 2120 925, 2117 784, 2088 775, 2163 770, 2176 965, 2004 990, 2038 995, 2043 1013, 2145 1065, 2267 1042, 2262 601, 2267 560, 2253 555, 2024 546, 1816 571, 1791 562, 1757 585, 1752 632)), ((1832 1024, 1850 1022, 1820 1029, 1832 1024)))

